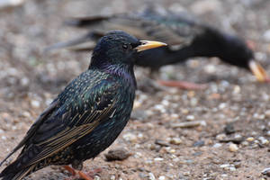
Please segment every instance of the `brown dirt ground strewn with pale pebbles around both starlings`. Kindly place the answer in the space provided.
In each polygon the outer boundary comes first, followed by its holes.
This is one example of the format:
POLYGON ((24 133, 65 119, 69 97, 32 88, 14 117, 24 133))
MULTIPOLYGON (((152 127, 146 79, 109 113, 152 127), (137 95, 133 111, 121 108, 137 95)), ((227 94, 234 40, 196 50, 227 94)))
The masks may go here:
MULTIPOLYGON (((84 32, 64 26, 63 21, 70 16, 134 11, 148 2, 26 0, 19 7, 0 10, 0 159, 89 64, 90 52, 42 52, 84 32)), ((257 60, 270 75, 270 1, 154 2, 172 11, 189 11, 223 31, 251 40, 257 60)), ((148 69, 137 67, 139 90, 129 124, 110 148, 85 161, 85 171, 102 167, 94 178, 111 180, 270 179, 262 175, 270 166, 270 85, 257 83, 246 70, 219 59, 202 59, 164 67, 157 76, 208 84, 202 91, 157 90, 144 83, 148 69), (179 127, 181 122, 192 125, 179 127), (104 154, 115 148, 123 148, 131 156, 106 161, 104 154)), ((68 176, 58 166, 50 166, 26 179, 68 176)))

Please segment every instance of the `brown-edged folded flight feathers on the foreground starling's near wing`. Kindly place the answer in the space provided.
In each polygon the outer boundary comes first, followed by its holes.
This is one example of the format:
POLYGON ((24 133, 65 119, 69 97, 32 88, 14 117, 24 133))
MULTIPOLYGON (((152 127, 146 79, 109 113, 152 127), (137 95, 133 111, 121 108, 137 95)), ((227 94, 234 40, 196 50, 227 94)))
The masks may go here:
MULTIPOLYGON (((114 90, 114 87, 112 87, 112 89, 114 90)), ((34 146, 42 147, 42 150, 35 157, 31 158, 25 166, 31 166, 42 159, 58 153, 74 143, 77 139, 81 139, 85 135, 91 133, 101 121, 110 119, 110 116, 116 109, 115 103, 117 98, 114 93, 109 93, 103 94, 100 99, 101 102, 98 103, 86 117, 84 115, 85 112, 81 115, 76 115, 76 117, 79 116, 80 118, 76 120, 72 127, 67 126, 65 130, 61 130, 49 139, 35 144, 34 146)), ((74 120, 74 118, 72 118, 72 120, 74 120)))

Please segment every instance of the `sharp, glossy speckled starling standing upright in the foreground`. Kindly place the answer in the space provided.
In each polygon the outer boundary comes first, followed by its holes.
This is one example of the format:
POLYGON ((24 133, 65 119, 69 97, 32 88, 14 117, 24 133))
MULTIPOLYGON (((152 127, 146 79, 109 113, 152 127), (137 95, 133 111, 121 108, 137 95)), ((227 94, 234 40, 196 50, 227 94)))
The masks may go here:
MULTIPOLYGON (((81 170, 86 159, 112 144, 130 119, 136 89, 134 56, 165 45, 138 40, 124 31, 104 35, 94 48, 88 69, 58 94, 4 159, 23 148, 0 177, 22 179, 49 165, 72 165, 81 170)), ((79 175, 84 174, 79 171, 79 175)))

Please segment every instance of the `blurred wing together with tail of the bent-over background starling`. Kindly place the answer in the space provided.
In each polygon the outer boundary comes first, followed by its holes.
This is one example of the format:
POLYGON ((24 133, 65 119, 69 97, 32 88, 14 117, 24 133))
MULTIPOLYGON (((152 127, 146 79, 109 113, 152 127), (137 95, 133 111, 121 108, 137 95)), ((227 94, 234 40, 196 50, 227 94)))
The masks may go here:
POLYGON ((172 50, 181 49, 202 34, 204 26, 185 14, 166 12, 161 14, 153 9, 142 13, 97 15, 71 18, 66 22, 89 31, 76 39, 58 42, 45 50, 68 48, 76 51, 92 50, 94 44, 107 31, 126 31, 140 40, 158 40, 169 45, 172 50))

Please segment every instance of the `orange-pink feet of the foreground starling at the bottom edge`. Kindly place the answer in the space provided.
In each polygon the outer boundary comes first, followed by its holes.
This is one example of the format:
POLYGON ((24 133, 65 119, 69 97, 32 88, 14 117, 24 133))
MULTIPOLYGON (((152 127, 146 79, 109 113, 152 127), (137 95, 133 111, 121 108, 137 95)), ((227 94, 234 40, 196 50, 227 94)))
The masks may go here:
POLYGON ((92 171, 88 171, 85 173, 83 171, 76 172, 76 170, 71 166, 64 166, 64 168, 72 175, 71 177, 68 177, 65 180, 74 180, 76 178, 81 178, 85 180, 94 180, 94 175, 102 171, 101 168, 96 168, 92 171))

